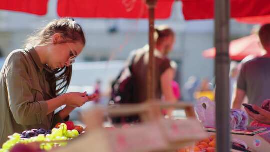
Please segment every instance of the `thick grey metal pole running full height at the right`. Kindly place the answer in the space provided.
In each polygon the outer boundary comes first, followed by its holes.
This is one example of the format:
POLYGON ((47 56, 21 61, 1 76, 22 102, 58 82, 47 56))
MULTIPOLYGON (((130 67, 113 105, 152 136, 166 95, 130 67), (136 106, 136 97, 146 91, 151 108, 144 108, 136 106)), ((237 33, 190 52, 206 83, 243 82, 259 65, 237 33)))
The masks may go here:
POLYGON ((216 149, 230 151, 229 124, 229 18, 230 0, 215 0, 216 149))

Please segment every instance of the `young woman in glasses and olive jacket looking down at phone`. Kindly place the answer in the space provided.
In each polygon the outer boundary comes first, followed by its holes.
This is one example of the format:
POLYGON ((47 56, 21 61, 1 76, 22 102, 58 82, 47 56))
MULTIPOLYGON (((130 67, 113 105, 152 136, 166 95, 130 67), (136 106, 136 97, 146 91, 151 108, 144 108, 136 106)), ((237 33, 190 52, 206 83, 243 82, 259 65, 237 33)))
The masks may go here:
POLYGON ((8 55, 0 72, 0 145, 14 132, 52 128, 93 99, 86 92, 65 93, 71 64, 85 45, 82 28, 72 18, 48 23, 26 44, 8 55))

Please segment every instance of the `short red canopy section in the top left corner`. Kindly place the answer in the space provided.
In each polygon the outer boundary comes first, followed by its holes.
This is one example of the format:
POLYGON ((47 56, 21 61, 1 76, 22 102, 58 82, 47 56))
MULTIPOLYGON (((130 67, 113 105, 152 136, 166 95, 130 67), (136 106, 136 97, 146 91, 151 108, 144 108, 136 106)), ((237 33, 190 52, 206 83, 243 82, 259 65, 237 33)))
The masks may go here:
POLYGON ((0 9, 36 15, 47 13, 48 0, 0 0, 0 9))

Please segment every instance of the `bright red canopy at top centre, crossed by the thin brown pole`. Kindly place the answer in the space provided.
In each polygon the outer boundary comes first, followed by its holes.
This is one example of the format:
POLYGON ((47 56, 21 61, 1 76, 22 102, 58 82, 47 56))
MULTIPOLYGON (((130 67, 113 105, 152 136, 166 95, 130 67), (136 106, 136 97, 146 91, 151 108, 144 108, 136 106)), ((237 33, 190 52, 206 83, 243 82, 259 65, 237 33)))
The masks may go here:
MULTIPOLYGON (((58 15, 84 18, 147 18, 144 0, 58 0, 58 15)), ((174 0, 158 0, 155 18, 170 16, 174 0)))

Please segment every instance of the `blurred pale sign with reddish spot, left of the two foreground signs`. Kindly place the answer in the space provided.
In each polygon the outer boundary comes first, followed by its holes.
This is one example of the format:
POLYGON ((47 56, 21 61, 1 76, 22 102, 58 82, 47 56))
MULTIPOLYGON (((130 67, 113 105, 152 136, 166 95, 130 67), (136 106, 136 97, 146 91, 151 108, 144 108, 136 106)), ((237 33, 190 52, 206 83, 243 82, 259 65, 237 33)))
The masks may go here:
POLYGON ((109 130, 108 135, 114 152, 154 151, 168 146, 156 123, 109 130))

